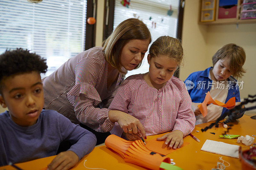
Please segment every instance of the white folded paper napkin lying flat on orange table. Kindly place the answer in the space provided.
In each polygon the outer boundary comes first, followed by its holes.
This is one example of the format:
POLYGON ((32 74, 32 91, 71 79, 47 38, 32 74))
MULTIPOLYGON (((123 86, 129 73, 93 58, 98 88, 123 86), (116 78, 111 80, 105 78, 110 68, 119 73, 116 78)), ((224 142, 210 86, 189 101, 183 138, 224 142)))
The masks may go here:
POLYGON ((238 145, 226 144, 224 142, 218 142, 208 139, 206 139, 204 145, 201 148, 202 151, 217 153, 220 155, 230 156, 233 158, 239 158, 238 149, 238 145))

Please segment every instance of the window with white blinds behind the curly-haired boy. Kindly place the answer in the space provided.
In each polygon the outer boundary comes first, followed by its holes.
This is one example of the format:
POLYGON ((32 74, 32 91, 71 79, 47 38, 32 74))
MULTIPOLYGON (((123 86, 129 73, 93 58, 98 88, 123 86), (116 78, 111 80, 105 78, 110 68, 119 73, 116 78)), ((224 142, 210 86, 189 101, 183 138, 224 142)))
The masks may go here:
POLYGON ((0 1, 0 53, 24 48, 47 58, 50 75, 84 51, 86 0, 0 1))

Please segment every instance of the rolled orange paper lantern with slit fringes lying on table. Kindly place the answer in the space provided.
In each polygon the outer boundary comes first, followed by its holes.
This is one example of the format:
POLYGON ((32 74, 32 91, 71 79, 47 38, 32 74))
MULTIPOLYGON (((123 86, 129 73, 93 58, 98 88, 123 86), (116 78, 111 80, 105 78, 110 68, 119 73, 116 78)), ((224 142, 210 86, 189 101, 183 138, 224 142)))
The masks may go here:
POLYGON ((149 169, 159 170, 162 162, 171 163, 170 158, 148 150, 141 140, 127 141, 116 135, 109 135, 105 145, 119 154, 125 162, 149 169))

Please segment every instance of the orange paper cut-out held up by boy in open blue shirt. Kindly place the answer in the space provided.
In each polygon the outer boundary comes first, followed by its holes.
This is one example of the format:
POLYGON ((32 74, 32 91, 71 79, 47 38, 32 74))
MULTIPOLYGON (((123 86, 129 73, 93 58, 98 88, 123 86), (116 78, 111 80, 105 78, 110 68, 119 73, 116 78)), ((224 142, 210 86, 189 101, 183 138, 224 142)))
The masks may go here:
POLYGON ((222 103, 218 100, 213 100, 210 95, 210 92, 207 92, 203 103, 197 105, 200 112, 202 113, 203 117, 205 117, 207 115, 207 104, 209 105, 211 103, 214 105, 217 105, 217 106, 221 106, 221 107, 232 107, 232 106, 236 105, 236 98, 232 97, 227 101, 227 103, 222 103))

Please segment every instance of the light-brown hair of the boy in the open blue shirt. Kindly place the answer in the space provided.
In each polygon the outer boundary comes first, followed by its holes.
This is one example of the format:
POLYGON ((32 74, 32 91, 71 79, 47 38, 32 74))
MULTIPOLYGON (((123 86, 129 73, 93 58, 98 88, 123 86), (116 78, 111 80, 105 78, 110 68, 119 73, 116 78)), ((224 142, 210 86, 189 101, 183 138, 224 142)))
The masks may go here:
POLYGON ((213 56, 213 66, 219 60, 228 60, 230 71, 235 78, 241 78, 246 71, 243 68, 245 62, 244 48, 237 46, 236 44, 227 44, 221 47, 213 56))

